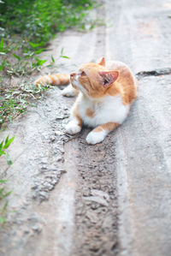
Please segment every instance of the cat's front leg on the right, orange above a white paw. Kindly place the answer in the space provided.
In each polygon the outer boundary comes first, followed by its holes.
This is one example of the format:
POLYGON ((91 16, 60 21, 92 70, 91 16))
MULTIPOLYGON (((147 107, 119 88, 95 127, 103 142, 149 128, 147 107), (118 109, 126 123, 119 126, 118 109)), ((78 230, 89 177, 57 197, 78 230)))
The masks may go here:
POLYGON ((86 142, 88 144, 95 145, 104 140, 104 138, 113 129, 117 128, 120 124, 116 122, 107 122, 94 128, 86 137, 86 142))

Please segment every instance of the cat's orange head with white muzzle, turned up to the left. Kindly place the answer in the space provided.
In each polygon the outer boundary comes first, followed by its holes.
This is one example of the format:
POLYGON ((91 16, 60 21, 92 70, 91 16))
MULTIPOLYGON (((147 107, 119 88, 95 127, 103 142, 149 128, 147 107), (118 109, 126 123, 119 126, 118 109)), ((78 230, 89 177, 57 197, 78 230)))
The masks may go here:
POLYGON ((78 73, 70 74, 74 88, 79 89, 91 98, 101 98, 117 80, 119 72, 105 68, 105 59, 100 63, 87 63, 80 67, 78 73))

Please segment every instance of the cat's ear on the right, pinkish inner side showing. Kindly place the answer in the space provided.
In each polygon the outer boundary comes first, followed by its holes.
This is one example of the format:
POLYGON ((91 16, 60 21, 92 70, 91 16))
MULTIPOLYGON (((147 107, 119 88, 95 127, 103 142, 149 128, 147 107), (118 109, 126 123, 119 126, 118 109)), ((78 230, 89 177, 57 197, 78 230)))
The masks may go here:
POLYGON ((119 71, 103 71, 99 72, 101 82, 104 87, 111 86, 119 76, 119 71))

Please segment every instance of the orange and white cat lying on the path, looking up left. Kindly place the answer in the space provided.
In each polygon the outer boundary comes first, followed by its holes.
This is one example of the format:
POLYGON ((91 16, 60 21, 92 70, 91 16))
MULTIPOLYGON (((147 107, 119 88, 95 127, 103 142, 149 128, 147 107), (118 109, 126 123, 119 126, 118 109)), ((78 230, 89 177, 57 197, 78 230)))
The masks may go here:
POLYGON ((125 63, 103 57, 99 63, 86 63, 77 73, 51 74, 40 77, 35 85, 67 85, 62 95, 77 95, 66 133, 77 134, 82 126, 93 128, 88 144, 95 145, 125 121, 137 97, 138 81, 125 63))

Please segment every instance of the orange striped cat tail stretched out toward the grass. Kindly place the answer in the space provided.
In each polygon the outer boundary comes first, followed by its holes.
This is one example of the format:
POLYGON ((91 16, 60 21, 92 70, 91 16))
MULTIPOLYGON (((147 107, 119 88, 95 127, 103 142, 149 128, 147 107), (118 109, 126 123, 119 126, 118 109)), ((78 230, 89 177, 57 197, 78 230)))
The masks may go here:
POLYGON ((70 83, 69 74, 50 74, 44 75, 34 81, 35 86, 45 86, 50 84, 52 86, 67 86, 70 83))

